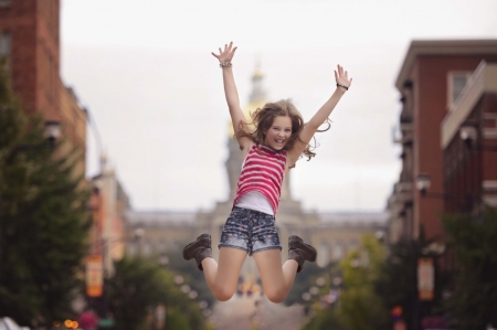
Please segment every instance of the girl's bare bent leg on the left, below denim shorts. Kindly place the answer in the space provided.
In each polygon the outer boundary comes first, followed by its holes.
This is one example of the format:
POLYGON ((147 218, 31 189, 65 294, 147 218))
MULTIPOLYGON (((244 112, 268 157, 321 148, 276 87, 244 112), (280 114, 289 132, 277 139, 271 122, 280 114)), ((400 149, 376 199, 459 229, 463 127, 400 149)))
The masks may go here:
POLYGON ((246 255, 243 249, 221 247, 219 264, 213 258, 202 260, 205 281, 215 299, 225 301, 233 297, 246 255))

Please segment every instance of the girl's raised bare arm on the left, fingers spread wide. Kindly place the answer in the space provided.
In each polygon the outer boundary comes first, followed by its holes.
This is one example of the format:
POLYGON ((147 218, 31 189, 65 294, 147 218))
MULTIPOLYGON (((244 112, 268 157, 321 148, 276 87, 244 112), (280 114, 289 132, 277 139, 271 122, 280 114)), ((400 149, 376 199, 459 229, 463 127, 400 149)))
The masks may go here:
MULTIPOLYGON (((230 42, 230 45, 224 45, 224 51, 219 49, 219 55, 212 53, 214 57, 216 57, 220 62, 221 68, 223 71, 223 84, 224 84, 224 95, 226 97, 228 107, 230 109, 231 120, 233 124, 233 130, 235 136, 240 131, 240 124, 242 123, 242 128, 246 132, 248 132, 248 127, 246 125, 245 115, 240 107, 239 92, 236 91, 236 84, 233 77, 233 68, 231 66, 231 60, 234 56, 234 53, 237 47, 233 47, 233 42, 230 42), (224 63, 230 63, 225 65, 224 63), (224 64, 224 65, 223 65, 224 64)), ((253 145, 253 141, 248 137, 237 138, 240 147, 243 150, 248 150, 253 145)))

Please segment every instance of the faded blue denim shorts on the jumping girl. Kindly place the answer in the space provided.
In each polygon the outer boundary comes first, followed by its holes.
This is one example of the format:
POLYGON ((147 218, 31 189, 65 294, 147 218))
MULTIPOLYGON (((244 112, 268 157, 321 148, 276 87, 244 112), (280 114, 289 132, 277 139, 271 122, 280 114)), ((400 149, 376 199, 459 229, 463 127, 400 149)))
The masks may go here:
POLYGON ((254 210, 233 207, 218 247, 234 247, 248 255, 264 249, 282 249, 274 216, 254 210))

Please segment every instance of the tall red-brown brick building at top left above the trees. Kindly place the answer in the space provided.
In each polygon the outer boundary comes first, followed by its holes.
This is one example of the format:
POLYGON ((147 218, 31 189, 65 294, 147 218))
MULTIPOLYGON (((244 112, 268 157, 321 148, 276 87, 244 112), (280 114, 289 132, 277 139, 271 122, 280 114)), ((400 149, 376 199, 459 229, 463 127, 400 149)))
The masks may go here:
POLYGON ((1 0, 0 55, 25 110, 60 124, 63 150, 81 155, 74 174, 84 175, 86 111, 60 77, 60 0, 1 0))

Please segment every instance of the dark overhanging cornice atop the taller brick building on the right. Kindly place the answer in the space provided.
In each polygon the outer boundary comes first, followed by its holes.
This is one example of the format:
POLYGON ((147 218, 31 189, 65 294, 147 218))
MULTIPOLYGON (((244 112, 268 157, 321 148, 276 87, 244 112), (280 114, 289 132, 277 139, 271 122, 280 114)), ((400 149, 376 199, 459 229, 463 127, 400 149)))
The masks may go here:
POLYGON ((399 71, 395 87, 402 91, 417 56, 476 54, 497 54, 497 39, 413 40, 399 71))

